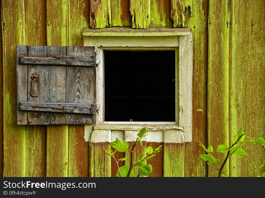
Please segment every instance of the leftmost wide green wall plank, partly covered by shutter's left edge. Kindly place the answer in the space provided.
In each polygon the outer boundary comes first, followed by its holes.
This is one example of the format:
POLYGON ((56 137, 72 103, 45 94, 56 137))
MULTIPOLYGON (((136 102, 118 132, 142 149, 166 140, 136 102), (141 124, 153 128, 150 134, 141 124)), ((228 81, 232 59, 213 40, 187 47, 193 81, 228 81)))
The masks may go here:
POLYGON ((24 1, 3 0, 3 176, 25 176, 25 127, 16 123, 16 45, 25 44, 24 1), (16 13, 16 14, 14 14, 16 13))

